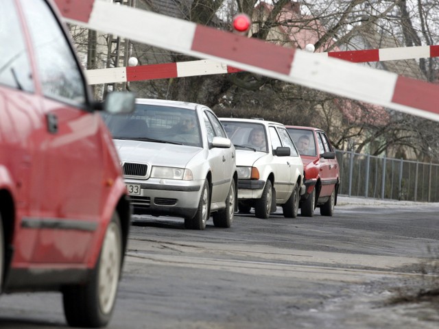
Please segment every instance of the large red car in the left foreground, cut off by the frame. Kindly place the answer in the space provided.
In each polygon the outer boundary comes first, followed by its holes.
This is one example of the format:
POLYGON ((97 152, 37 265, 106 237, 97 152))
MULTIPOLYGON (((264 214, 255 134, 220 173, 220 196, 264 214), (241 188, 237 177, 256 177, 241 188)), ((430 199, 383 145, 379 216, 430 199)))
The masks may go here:
POLYGON ((0 291, 60 291, 67 323, 105 326, 131 206, 69 32, 49 0, 1 0, 0 291))

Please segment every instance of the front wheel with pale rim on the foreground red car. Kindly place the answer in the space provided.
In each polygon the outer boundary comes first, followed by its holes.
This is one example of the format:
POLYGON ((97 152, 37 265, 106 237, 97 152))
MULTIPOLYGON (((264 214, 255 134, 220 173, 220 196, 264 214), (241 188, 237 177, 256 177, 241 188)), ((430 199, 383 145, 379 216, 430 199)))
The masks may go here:
POLYGON ((117 212, 112 215, 91 279, 62 289, 64 315, 72 327, 99 328, 110 321, 115 307, 122 264, 122 232, 117 212))

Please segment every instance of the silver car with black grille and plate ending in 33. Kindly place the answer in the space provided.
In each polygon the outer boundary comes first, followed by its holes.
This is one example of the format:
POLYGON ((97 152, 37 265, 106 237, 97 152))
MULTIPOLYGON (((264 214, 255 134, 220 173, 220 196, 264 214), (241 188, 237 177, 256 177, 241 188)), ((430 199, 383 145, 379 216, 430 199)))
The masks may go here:
POLYGON ((128 115, 106 115, 134 214, 183 217, 185 228, 204 230, 233 222, 235 147, 206 106, 137 99, 128 115))

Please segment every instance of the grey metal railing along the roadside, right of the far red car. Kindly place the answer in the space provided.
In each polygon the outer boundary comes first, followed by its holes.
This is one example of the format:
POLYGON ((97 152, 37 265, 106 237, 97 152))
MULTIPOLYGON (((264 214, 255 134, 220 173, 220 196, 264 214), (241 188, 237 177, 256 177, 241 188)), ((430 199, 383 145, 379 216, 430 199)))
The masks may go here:
POLYGON ((340 165, 340 195, 439 202, 439 164, 335 152, 340 165))

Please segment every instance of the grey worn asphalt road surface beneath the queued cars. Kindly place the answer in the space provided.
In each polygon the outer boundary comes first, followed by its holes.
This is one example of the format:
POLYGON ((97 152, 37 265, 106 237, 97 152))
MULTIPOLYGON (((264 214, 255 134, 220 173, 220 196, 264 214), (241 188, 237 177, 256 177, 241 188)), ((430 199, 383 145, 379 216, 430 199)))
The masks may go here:
MULTIPOLYGON (((333 217, 135 217, 108 328, 439 328, 439 204, 341 197, 333 217), (396 300, 407 300, 394 303, 396 300)), ((0 328, 66 328, 58 293, 0 296, 0 328)))

